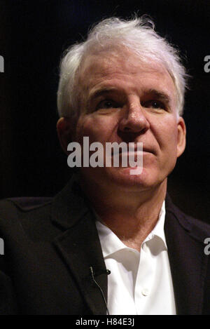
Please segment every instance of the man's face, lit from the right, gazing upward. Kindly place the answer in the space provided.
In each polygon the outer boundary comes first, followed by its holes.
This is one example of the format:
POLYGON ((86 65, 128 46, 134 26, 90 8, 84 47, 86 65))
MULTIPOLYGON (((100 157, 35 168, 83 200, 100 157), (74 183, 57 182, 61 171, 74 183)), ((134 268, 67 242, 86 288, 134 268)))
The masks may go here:
POLYGON ((74 140, 90 143, 143 142, 143 171, 130 167, 81 168, 84 179, 104 187, 150 189, 167 181, 185 147, 185 125, 176 112, 176 90, 169 73, 124 52, 86 58, 80 69, 81 114, 74 140))

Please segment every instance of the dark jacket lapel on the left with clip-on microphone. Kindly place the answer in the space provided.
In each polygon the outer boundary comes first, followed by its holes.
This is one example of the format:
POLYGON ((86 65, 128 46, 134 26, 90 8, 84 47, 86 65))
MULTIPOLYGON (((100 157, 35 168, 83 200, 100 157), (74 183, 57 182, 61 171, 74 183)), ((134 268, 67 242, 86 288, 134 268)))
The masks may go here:
POLYGON ((106 314, 107 274, 102 248, 94 216, 76 180, 73 179, 55 199, 52 221, 65 229, 55 240, 55 246, 73 274, 88 307, 93 314, 106 314), (94 283, 90 267, 102 291, 94 283))

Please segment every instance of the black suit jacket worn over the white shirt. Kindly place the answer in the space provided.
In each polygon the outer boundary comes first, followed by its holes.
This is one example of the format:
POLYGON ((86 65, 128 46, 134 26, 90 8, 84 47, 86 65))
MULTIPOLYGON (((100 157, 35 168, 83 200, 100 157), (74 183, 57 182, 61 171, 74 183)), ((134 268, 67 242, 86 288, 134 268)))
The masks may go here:
MULTIPOLYGON (((167 196, 165 235, 177 314, 210 314, 209 225, 183 214, 167 196)), ((53 199, 1 201, 0 237, 0 314, 106 314, 102 248, 74 178, 53 199)))

